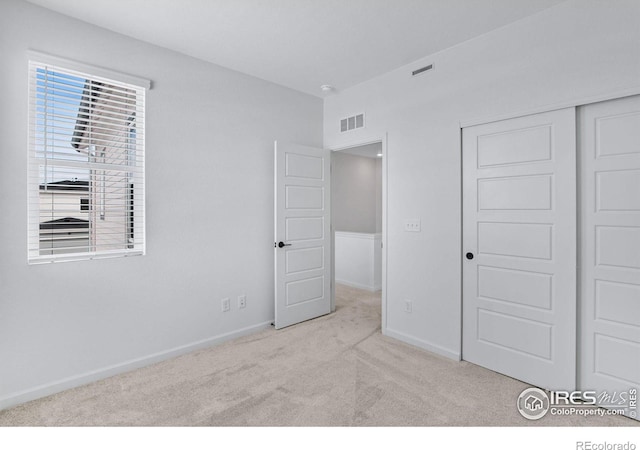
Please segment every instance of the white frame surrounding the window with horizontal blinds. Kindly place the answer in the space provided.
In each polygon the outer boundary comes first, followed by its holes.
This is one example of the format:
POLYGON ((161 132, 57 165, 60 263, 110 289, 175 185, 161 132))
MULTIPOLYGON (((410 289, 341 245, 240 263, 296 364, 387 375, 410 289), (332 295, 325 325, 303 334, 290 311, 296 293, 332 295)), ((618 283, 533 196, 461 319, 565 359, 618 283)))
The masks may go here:
MULTIPOLYGON (((27 143, 27 192, 28 192, 28 217, 27 217, 27 261, 28 264, 42 264, 51 262, 64 262, 64 261, 81 261, 81 260, 93 260, 103 258, 115 258, 115 257, 127 257, 127 256, 140 256, 146 253, 146 207, 145 207, 145 112, 146 112, 146 93, 151 88, 151 82, 144 78, 123 74, 120 72, 104 69, 98 66, 92 66, 88 64, 79 63, 76 61, 60 58, 57 56, 48 55, 46 53, 28 51, 28 74, 27 80, 29 85, 28 93, 28 143, 27 143), (104 80, 112 83, 114 86, 123 88, 133 88, 136 92, 135 105, 136 109, 141 107, 142 114, 136 116, 136 128, 139 131, 139 135, 136 136, 136 161, 132 164, 127 161, 127 164, 122 166, 122 173, 135 172, 135 175, 131 175, 132 179, 127 181, 127 205, 134 205, 135 207, 131 211, 124 210, 128 215, 131 223, 127 225, 125 232, 125 238, 123 242, 126 243, 127 236, 133 236, 134 220, 136 223, 135 229, 136 237, 134 242, 130 242, 128 248, 119 248, 115 250, 100 249, 95 251, 78 251, 75 253, 61 253, 61 254, 41 254, 40 242, 41 242, 41 218, 40 218, 40 170, 42 167, 42 160, 36 156, 37 144, 36 144, 36 128, 38 120, 38 112, 36 105, 36 84, 35 78, 38 68, 44 68, 45 70, 58 71, 62 74, 72 76, 86 77, 87 80, 95 81, 104 80), (127 168, 135 169, 135 171, 127 171, 127 168), (135 180, 133 179, 135 178, 135 180), (37 181, 36 181, 37 180, 37 181), (37 204, 35 204, 37 203, 37 204), (135 217, 135 219, 133 219, 135 217), (133 219, 133 220, 132 220, 133 219)), ((46 125, 45 125, 46 129, 46 125)), ((127 157, 128 160, 128 157, 127 157)), ((46 162, 45 162, 46 166, 46 162)), ((70 168, 74 164, 68 165, 64 162, 59 163, 59 167, 70 168)), ((90 164, 87 163, 86 168, 89 168, 90 164)), ((56 165, 58 167, 58 165, 56 165)), ((89 202, 91 204, 91 202, 89 202)), ((95 245, 95 244, 94 244, 95 245)))

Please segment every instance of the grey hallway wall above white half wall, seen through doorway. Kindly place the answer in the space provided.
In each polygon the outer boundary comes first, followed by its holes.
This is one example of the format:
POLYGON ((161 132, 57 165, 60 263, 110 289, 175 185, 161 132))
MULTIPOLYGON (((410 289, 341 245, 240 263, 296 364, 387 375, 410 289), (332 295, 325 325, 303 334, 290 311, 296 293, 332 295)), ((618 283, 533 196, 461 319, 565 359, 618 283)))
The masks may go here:
POLYGON ((378 185, 382 171, 378 172, 376 161, 376 158, 343 152, 333 152, 331 155, 331 212, 336 231, 379 231, 378 222, 382 222, 377 216, 380 212, 378 185))

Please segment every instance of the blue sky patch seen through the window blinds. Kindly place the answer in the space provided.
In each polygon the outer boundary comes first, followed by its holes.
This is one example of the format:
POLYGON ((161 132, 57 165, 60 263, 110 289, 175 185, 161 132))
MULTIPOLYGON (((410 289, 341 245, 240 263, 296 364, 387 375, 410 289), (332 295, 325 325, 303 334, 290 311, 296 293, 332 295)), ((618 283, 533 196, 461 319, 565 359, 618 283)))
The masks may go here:
POLYGON ((63 180, 89 181, 89 171, 62 167, 56 162, 86 161, 88 155, 72 147, 73 132, 87 80, 38 68, 36 72, 36 154, 46 159, 40 183, 63 180))

